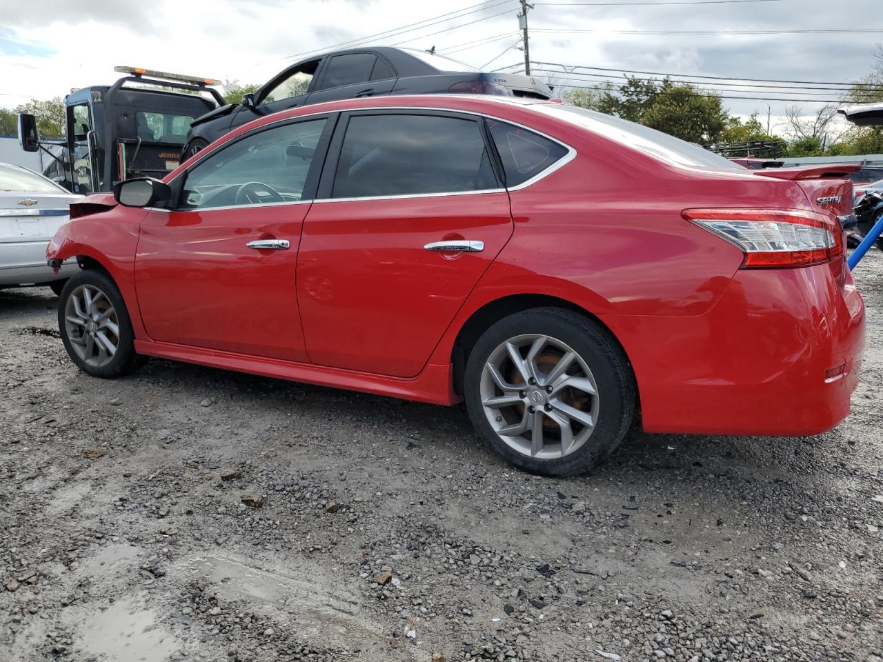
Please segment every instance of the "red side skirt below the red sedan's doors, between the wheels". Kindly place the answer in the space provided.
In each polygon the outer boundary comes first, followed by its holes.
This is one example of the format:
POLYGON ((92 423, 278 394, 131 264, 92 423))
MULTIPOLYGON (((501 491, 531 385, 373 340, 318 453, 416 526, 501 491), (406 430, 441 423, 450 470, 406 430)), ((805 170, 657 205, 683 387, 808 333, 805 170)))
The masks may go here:
POLYGON ((171 342, 136 340, 135 351, 148 357, 170 358, 173 361, 208 365, 235 372, 249 372, 279 380, 302 381, 318 386, 362 391, 374 395, 389 395, 404 400, 452 405, 462 399, 454 393, 451 365, 426 365, 417 377, 403 380, 368 372, 295 363, 277 358, 253 357, 230 351, 206 350, 171 342))

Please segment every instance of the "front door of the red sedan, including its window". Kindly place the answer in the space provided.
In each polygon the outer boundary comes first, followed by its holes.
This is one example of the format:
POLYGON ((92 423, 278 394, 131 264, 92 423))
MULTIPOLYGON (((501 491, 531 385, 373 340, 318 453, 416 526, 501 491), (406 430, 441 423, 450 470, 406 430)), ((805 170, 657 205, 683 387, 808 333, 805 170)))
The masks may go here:
POLYGON ((298 242, 334 120, 246 133, 176 179, 174 208, 147 211, 135 285, 152 340, 306 360, 298 242))

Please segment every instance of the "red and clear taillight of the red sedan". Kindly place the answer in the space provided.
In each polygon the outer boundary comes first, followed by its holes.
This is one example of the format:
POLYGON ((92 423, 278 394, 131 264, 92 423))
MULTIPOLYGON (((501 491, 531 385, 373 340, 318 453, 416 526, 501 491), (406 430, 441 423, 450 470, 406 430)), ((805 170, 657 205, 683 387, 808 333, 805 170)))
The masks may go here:
POLYGON ((833 216, 796 209, 687 209, 683 217, 745 253, 743 269, 806 267, 843 254, 833 216))

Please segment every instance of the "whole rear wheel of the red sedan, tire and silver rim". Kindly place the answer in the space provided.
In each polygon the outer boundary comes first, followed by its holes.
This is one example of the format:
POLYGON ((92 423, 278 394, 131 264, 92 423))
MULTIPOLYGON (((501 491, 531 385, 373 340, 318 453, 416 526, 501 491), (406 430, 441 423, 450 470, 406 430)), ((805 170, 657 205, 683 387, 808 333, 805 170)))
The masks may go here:
POLYGON ((636 388, 607 329, 577 312, 534 308, 481 335, 464 396, 472 424, 497 455, 532 473, 568 476, 620 444, 636 388))

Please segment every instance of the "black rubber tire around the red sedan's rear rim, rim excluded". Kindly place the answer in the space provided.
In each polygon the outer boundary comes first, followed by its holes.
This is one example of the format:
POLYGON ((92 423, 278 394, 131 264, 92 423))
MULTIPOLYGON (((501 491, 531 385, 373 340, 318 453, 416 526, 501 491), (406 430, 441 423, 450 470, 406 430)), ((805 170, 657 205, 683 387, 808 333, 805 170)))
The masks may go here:
MULTIPOLYGON (((525 384, 525 388, 531 387, 525 384)), ((466 409, 479 434, 487 440, 494 453, 509 463, 543 476, 569 476, 585 472, 613 452, 630 429, 635 414, 636 392, 629 360, 608 330, 585 315, 562 308, 533 308, 496 322, 475 343, 464 372, 466 409), (582 445, 568 455, 540 459, 513 448, 494 430, 482 404, 481 380, 485 376, 487 361, 504 342, 525 335, 546 335, 565 343, 589 368, 597 387, 597 416, 592 431, 582 445)), ((520 411, 525 412, 525 409, 520 411)), ((540 419, 545 420, 542 416, 540 419)), ((501 418, 497 417, 496 420, 500 421, 501 418)))

